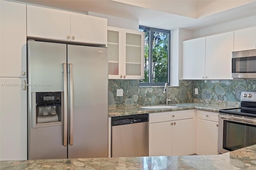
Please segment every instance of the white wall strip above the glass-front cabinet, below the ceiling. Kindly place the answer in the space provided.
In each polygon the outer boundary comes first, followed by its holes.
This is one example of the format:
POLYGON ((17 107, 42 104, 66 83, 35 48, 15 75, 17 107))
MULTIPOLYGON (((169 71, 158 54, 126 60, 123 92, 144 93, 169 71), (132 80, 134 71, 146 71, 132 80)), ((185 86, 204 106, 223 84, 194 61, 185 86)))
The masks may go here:
POLYGON ((139 30, 139 21, 138 20, 130 20, 126 18, 119 18, 115 16, 109 16, 104 14, 98 14, 94 12, 88 12, 88 15, 97 16, 100 18, 108 19, 108 26, 118 27, 118 28, 126 28, 130 30, 139 30))

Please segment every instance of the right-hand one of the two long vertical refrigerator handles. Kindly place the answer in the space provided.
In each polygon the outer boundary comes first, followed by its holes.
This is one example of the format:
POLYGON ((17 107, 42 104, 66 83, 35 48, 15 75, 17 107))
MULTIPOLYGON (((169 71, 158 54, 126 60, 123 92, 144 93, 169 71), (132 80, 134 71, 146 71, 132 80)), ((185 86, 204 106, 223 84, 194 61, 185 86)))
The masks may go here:
POLYGON ((74 77, 73 64, 69 64, 70 73, 70 146, 73 145, 74 134, 74 77))

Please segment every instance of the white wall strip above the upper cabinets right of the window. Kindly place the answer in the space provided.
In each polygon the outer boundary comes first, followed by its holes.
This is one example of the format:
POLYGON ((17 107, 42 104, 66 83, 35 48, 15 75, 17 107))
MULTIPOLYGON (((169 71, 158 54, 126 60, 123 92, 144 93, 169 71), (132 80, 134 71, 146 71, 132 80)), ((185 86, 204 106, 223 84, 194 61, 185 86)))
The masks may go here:
POLYGON ((234 30, 241 30, 244 28, 250 28, 254 26, 256 26, 256 16, 251 16, 251 17, 240 19, 240 20, 225 22, 223 24, 218 24, 215 26, 194 30, 193 38, 211 36, 214 34, 220 34, 220 33, 230 32, 234 30))

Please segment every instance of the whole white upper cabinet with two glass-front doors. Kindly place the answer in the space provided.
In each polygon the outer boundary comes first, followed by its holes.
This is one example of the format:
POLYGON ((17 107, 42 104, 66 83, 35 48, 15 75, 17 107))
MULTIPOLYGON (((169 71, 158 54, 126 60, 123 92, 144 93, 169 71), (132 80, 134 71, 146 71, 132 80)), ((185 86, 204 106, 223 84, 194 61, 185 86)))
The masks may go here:
POLYGON ((144 79, 144 32, 108 27, 108 78, 144 79))

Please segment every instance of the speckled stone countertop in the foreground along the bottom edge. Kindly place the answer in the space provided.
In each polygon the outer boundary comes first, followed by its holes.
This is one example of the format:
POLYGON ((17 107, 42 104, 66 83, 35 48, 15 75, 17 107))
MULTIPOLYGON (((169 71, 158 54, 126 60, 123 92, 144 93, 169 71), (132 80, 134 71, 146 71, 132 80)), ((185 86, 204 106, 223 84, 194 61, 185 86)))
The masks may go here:
POLYGON ((1 170, 255 170, 256 145, 222 155, 0 161, 1 170))

